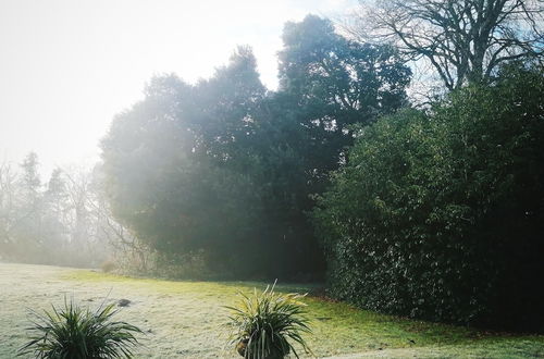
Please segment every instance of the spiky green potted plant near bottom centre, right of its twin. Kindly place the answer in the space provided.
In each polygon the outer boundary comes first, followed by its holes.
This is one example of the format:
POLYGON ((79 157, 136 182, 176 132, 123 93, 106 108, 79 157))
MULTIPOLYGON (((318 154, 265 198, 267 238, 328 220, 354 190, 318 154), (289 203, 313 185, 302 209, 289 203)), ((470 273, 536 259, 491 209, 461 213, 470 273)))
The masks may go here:
POLYGON ((230 345, 236 346, 240 356, 247 359, 284 358, 293 352, 298 343, 306 352, 311 352, 302 334, 311 333, 306 318, 306 305, 300 301, 305 295, 275 294, 274 286, 264 292, 254 290, 251 296, 238 293, 239 301, 231 311, 230 345))

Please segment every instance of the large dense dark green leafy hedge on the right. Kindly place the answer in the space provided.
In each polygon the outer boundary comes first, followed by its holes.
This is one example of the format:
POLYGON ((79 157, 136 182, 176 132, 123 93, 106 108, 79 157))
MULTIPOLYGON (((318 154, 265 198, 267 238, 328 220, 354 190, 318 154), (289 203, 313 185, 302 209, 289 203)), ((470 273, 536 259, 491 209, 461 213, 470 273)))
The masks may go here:
POLYGON ((332 296, 415 318, 543 329, 543 73, 500 78, 361 128, 313 212, 332 296))

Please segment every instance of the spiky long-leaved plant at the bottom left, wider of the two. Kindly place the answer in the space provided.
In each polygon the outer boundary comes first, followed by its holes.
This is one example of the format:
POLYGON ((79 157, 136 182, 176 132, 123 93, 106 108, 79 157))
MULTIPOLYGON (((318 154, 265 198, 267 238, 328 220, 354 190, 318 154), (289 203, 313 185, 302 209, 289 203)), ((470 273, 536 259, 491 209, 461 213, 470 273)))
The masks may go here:
POLYGON ((102 304, 96 311, 82 308, 64 299, 64 308, 44 314, 34 313, 37 320, 27 330, 30 341, 18 355, 32 354, 38 359, 106 359, 132 358, 138 345, 137 326, 113 321, 115 305, 102 304))

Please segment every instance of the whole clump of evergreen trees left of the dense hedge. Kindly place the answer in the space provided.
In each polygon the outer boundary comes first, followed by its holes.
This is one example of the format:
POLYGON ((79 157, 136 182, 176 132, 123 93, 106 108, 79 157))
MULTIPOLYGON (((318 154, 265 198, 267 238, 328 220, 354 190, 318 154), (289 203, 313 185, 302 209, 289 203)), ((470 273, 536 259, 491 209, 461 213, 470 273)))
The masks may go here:
POLYGON ((115 218, 169 261, 199 253, 222 277, 321 277, 310 195, 351 143, 347 124, 404 103, 409 70, 314 16, 286 25, 284 42, 277 92, 242 47, 195 85, 153 78, 103 139, 115 218), (332 72, 311 70, 323 61, 332 72))

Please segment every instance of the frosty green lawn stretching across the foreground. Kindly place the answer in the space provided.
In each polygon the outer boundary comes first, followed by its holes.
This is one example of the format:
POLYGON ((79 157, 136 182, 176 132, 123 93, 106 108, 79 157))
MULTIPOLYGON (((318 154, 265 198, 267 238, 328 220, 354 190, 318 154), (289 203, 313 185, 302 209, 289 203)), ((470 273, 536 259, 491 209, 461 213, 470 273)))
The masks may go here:
MULTIPOLYGON (((131 300, 118 318, 143 329, 137 358, 236 358, 225 347, 225 305, 236 292, 262 283, 170 282, 129 278, 57 267, 0 263, 0 358, 14 358, 26 341, 29 308, 61 305, 64 296, 98 307, 131 300)), ((304 286, 281 290, 307 292, 304 286)), ((543 335, 494 334, 406 320, 314 297, 306 299, 318 357, 534 358, 544 357, 543 335)))

